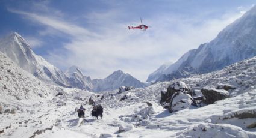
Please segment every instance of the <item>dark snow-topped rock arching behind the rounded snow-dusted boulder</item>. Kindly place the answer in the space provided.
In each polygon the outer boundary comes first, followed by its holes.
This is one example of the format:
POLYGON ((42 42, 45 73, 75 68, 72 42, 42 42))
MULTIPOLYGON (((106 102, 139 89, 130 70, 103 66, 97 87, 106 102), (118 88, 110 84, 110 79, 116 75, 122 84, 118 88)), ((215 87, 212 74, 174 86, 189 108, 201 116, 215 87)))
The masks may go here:
POLYGON ((161 91, 161 100, 160 103, 169 103, 170 102, 170 98, 172 97, 173 94, 175 94, 175 92, 181 91, 185 94, 189 94, 192 95, 192 92, 190 91, 190 89, 187 87, 187 85, 184 82, 175 82, 172 83, 172 85, 170 85, 167 88, 167 91, 161 91))

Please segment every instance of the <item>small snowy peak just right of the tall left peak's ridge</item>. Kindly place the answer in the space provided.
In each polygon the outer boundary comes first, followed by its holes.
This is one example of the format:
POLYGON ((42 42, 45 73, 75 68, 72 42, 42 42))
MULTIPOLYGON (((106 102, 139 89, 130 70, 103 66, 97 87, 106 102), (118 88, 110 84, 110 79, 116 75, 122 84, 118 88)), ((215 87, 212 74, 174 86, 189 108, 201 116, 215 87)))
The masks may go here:
POLYGON ((77 66, 72 66, 66 71, 68 82, 71 86, 80 89, 92 91, 92 80, 90 77, 84 76, 77 66))

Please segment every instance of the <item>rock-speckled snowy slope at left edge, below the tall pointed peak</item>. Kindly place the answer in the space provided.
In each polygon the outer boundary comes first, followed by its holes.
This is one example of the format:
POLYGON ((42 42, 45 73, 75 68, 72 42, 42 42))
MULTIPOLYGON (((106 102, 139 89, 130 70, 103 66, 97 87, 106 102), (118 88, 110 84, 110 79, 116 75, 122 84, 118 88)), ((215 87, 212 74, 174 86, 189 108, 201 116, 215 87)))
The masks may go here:
POLYGON ((0 52, 0 103, 36 103, 52 97, 55 90, 18 67, 0 52))

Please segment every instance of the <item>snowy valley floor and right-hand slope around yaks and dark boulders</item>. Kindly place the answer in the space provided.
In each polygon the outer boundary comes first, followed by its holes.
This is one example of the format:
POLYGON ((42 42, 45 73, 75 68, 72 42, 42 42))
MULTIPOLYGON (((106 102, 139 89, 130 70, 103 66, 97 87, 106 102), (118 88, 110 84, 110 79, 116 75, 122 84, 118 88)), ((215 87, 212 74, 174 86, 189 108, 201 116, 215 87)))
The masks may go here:
POLYGON ((90 92, 63 89, 66 95, 25 106, 38 112, 0 114, 1 137, 256 137, 256 128, 248 128, 256 116, 239 118, 243 113, 256 113, 256 57, 229 65, 222 70, 178 79, 197 95, 201 88, 232 85, 230 98, 203 107, 193 107, 169 113, 160 106, 160 91, 178 80, 158 82, 146 88, 137 88, 118 94, 102 92, 104 106, 102 119, 92 119, 92 106, 86 104, 90 92), (126 95, 127 99, 120 101, 126 95), (81 99, 75 98, 79 96, 81 99), (57 107, 58 101, 66 106, 57 107), (146 101, 152 103, 148 107, 146 101), (75 107, 86 108, 84 124, 77 125, 75 107), (11 125, 11 126, 10 126, 11 125), (10 126, 10 128, 8 128, 10 126), (7 129, 6 129, 7 127, 7 129), (123 128, 122 133, 118 133, 123 128))

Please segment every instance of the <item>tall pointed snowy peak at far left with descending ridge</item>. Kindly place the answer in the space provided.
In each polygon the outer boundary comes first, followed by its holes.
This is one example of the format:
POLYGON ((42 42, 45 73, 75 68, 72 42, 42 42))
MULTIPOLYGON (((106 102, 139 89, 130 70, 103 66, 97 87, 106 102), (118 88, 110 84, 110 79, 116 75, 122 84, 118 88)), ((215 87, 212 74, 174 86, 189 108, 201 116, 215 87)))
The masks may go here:
POLYGON ((54 65, 31 50, 27 41, 17 32, 0 40, 0 51, 11 58, 19 67, 38 77, 44 82, 54 82, 60 86, 69 86, 66 76, 54 65))

